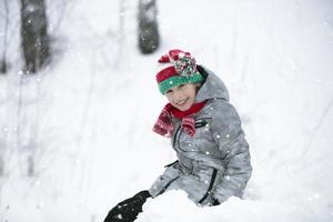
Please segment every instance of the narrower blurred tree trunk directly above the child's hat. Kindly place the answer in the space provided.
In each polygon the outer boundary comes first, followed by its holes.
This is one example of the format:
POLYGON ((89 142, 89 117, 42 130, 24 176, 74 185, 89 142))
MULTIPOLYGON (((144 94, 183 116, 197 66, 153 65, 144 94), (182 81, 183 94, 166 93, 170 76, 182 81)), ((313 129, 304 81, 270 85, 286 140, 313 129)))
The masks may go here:
POLYGON ((143 54, 154 52, 160 44, 155 0, 139 1, 139 48, 143 54))

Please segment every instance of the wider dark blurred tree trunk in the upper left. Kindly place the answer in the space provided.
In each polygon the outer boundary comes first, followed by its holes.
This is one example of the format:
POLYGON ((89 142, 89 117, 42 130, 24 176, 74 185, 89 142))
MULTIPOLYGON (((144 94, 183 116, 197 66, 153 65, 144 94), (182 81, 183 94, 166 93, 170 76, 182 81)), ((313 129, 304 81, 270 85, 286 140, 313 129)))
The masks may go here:
POLYGON ((24 71, 36 73, 50 57, 44 0, 21 0, 21 38, 24 71))

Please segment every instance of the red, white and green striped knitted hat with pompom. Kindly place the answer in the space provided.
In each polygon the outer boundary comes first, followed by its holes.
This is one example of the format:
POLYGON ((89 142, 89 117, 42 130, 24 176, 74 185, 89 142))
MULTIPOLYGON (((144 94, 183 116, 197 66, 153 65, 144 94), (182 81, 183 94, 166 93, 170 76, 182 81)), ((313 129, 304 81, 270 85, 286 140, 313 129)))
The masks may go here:
POLYGON ((202 81, 202 77, 196 70, 195 59, 190 52, 179 49, 170 50, 160 58, 159 63, 160 71, 157 74, 157 81, 162 94, 175 85, 202 81))

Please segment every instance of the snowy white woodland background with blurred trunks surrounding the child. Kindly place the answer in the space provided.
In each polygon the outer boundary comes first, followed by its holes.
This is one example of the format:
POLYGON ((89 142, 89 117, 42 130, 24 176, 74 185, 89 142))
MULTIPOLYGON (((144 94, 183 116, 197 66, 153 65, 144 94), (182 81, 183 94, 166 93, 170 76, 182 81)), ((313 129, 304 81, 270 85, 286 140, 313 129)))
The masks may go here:
POLYGON ((172 191, 138 221, 333 221, 333 1, 155 3, 0 0, 0 222, 98 222, 151 185, 175 158, 151 131, 172 48, 225 82, 253 175, 244 200, 172 191))

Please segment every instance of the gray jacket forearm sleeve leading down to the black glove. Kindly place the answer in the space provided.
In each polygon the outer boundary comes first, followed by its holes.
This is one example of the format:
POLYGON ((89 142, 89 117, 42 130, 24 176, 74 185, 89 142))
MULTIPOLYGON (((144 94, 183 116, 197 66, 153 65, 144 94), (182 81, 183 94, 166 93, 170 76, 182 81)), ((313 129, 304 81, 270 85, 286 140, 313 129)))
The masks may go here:
POLYGON ((162 194, 181 175, 178 164, 179 163, 176 161, 170 165, 167 165, 164 173, 154 181, 149 189, 149 193, 152 198, 162 194))

